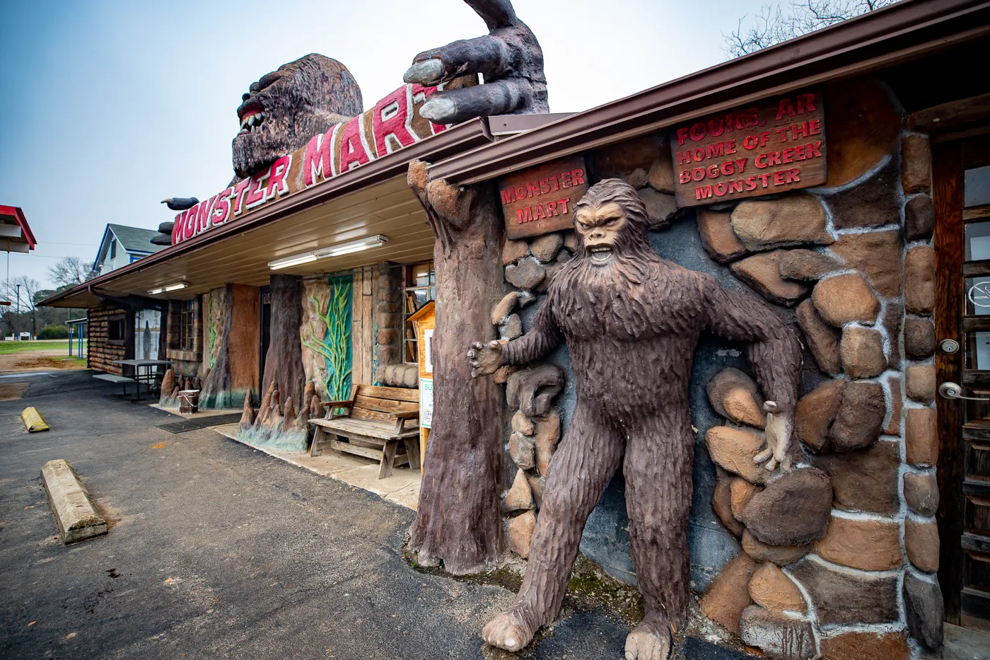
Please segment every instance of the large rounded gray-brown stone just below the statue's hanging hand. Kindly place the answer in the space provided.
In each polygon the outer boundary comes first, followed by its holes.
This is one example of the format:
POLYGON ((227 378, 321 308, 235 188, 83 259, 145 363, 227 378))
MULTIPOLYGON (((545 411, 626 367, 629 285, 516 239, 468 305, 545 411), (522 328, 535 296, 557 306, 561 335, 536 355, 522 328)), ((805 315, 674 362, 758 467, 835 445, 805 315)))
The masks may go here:
POLYGON ((817 468, 781 475, 752 496, 743 523, 769 545, 806 545, 825 535, 832 512, 832 483, 817 468))

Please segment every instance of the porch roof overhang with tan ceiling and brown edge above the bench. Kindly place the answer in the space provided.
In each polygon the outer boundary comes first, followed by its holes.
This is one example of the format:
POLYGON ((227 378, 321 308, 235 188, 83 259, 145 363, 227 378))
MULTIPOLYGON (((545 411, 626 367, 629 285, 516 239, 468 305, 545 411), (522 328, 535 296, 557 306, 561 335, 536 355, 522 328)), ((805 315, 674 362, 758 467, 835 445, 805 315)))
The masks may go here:
POLYGON ((279 270, 315 275, 358 269, 383 261, 411 263, 433 255, 433 230, 406 180, 413 159, 438 161, 491 140, 487 122, 473 119, 405 149, 325 179, 233 222, 215 227, 106 275, 66 289, 40 304, 94 307, 129 293, 161 299, 188 298, 229 282, 263 285, 268 262, 376 234, 380 248, 279 270), (175 282, 187 287, 151 296, 175 282))

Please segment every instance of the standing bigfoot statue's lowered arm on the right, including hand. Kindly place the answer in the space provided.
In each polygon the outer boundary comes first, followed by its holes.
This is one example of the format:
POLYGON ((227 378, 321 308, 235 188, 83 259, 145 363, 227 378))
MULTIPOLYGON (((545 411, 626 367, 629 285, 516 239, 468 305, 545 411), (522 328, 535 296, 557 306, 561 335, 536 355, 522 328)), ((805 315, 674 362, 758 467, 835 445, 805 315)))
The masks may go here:
POLYGON ((753 459, 766 469, 790 470, 788 449, 801 376, 801 346, 772 311, 750 295, 728 291, 711 275, 702 279, 708 328, 726 339, 748 343, 746 356, 766 403, 766 449, 753 459))

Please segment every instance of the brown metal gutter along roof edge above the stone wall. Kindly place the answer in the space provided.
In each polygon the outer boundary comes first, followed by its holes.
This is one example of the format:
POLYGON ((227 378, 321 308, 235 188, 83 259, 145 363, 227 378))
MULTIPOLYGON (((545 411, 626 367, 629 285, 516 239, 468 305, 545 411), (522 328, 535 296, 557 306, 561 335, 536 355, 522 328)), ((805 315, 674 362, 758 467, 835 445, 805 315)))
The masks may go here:
POLYGON ((430 175, 469 184, 799 87, 877 70, 990 35, 986 0, 902 0, 453 156, 430 175))

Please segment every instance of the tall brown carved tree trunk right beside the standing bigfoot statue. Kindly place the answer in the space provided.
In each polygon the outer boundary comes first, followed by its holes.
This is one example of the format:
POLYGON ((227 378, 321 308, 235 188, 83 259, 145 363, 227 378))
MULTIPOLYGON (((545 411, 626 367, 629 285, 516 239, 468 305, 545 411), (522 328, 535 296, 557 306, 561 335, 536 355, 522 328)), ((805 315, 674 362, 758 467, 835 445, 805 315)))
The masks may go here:
POLYGON ((421 564, 443 561, 462 575, 484 570, 503 551, 502 388, 472 379, 466 354, 471 341, 495 338, 488 316, 505 289, 504 230, 488 185, 428 184, 426 164, 415 161, 409 183, 437 235, 434 422, 410 546, 421 564))

